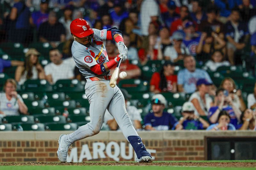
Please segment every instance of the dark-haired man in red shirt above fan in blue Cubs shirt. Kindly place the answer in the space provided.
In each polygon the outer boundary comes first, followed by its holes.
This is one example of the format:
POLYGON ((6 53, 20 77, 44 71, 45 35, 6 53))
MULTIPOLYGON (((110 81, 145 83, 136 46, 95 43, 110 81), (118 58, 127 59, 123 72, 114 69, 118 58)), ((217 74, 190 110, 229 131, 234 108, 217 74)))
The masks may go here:
POLYGON ((188 17, 188 7, 185 5, 182 5, 180 7, 180 18, 176 19, 175 21, 172 22, 171 27, 170 27, 170 35, 174 33, 177 30, 182 30, 183 29, 183 21, 185 18, 188 17))

